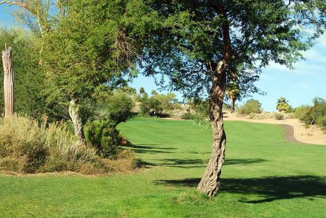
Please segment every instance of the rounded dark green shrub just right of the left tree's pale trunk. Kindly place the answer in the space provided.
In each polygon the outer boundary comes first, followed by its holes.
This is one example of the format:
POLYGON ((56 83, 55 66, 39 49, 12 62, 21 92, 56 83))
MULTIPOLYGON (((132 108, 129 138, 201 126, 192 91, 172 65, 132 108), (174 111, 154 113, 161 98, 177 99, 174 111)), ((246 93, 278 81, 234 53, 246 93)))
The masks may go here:
POLYGON ((97 149, 100 157, 114 157, 121 149, 122 137, 119 130, 110 127, 105 120, 95 120, 85 125, 85 137, 88 144, 97 149))

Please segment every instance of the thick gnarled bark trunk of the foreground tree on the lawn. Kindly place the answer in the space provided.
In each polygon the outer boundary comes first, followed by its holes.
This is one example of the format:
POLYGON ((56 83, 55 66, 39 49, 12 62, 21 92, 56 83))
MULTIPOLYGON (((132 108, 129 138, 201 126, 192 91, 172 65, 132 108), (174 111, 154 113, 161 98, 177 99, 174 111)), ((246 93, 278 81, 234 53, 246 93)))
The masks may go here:
POLYGON ((212 154, 197 190, 213 198, 220 188, 220 175, 225 157, 226 135, 223 127, 223 99, 225 94, 225 64, 220 61, 215 70, 210 91, 209 120, 212 126, 212 154))

